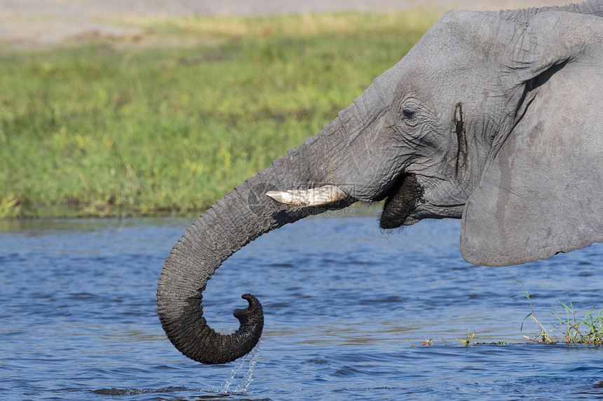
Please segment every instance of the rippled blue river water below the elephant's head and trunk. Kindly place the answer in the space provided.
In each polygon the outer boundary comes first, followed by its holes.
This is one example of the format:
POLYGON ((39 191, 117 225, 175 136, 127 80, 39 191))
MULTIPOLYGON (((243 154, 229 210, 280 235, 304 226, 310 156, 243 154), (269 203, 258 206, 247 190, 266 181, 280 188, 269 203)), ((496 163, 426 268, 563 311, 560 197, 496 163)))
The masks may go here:
POLYGON ((220 267, 210 325, 236 330, 252 293, 265 327, 255 356, 217 366, 182 356, 156 315, 191 219, 0 222, 0 400, 603 400, 603 347, 525 339, 538 329, 517 282, 561 338, 560 302, 577 318, 603 309, 603 246, 476 267, 458 221, 386 234, 342 214, 266 234, 220 267), (464 346, 470 335, 485 344, 464 346))

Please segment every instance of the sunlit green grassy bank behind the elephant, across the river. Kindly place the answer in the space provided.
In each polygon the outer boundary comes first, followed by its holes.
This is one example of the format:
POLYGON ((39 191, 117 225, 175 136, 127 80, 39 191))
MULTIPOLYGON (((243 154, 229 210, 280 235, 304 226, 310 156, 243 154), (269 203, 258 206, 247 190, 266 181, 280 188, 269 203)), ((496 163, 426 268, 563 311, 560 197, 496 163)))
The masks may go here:
POLYGON ((0 218, 197 214, 318 132, 434 15, 128 20, 0 48, 0 218))

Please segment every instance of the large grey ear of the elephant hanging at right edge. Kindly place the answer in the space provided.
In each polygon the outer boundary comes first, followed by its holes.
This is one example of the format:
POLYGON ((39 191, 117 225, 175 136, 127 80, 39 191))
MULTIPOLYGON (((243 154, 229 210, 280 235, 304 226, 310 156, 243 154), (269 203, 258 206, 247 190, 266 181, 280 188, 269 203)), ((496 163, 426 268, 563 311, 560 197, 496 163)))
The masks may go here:
POLYGON ((461 254, 475 265, 603 241, 603 18, 543 13, 525 34, 536 52, 513 72, 518 117, 463 211, 461 254))

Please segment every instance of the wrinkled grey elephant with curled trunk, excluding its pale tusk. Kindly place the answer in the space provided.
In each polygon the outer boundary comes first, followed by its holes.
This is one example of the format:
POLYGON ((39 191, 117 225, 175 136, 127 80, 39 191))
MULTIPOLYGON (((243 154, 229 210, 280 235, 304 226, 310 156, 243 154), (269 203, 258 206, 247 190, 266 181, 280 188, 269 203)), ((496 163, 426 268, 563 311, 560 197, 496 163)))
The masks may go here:
MULTIPOLYGON (((461 253, 513 265, 603 241, 603 1, 450 11, 321 132, 205 211, 165 261, 165 332, 184 355, 226 363, 262 334, 254 297, 240 329, 206 325, 202 291, 231 254, 286 223, 386 200, 381 227, 462 218, 461 253), (267 197, 337 185, 303 208, 267 197)), ((412 241, 412 235, 409 234, 412 241)), ((434 244, 434 246, 437 246, 434 244)))

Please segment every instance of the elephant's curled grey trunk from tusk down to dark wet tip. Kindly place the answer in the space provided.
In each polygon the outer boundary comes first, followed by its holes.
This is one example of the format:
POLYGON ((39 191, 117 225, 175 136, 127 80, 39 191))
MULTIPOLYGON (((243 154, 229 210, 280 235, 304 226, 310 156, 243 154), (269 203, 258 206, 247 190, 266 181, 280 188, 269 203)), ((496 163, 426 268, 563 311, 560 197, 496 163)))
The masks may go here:
POLYGON ((280 204, 265 195, 269 190, 283 188, 274 185, 279 175, 275 167, 269 167, 238 185, 189 227, 165 260, 157 290, 158 314, 172 343, 193 360, 230 362, 250 352, 262 335, 262 306, 250 294, 243 295, 249 307, 234 312, 240 321, 235 333, 221 335, 203 318, 203 290, 226 258, 265 232, 352 202, 337 199, 320 206, 320 210, 318 206, 299 209, 280 204))

